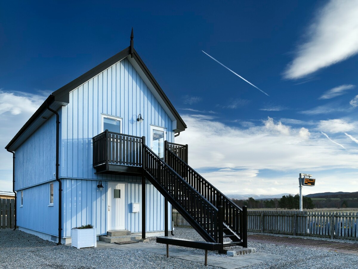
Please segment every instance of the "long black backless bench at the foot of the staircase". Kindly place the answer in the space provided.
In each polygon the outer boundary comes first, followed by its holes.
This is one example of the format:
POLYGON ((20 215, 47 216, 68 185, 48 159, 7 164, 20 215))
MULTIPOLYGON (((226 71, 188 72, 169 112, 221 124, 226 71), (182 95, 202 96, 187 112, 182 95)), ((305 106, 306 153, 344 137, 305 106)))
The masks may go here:
POLYGON ((156 242, 161 244, 166 244, 167 258, 169 258, 169 245, 192 247, 193 249, 204 249, 205 266, 208 265, 208 250, 219 250, 221 248, 221 244, 219 243, 195 241, 195 240, 181 239, 181 238, 175 238, 169 236, 158 236, 156 242))

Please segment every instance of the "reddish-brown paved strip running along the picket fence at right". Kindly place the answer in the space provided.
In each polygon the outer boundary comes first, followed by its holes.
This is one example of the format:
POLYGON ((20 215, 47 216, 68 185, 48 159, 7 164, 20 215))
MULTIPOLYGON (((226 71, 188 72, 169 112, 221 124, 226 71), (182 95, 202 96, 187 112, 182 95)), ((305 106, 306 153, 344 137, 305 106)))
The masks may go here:
POLYGON ((341 242, 334 242, 334 241, 302 239, 297 237, 282 237, 282 236, 271 236, 271 235, 248 235, 247 241, 263 243, 263 244, 305 247, 308 249, 326 250, 326 251, 334 251, 337 253, 358 255, 358 242, 341 243, 341 242))

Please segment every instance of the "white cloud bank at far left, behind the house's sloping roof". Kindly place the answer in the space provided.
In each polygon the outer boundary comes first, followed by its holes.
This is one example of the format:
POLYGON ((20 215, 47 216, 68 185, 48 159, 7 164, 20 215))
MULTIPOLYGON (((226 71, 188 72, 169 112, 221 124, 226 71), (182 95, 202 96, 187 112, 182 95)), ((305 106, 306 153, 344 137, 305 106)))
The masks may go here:
MULTIPOLYGON (((28 94, 19 91, 0 90, 0 148, 10 142, 20 128, 44 102, 47 96, 28 94)), ((11 192, 12 187, 12 154, 6 150, 0 151, 0 174, 2 175, 0 187, 3 191, 11 192)))

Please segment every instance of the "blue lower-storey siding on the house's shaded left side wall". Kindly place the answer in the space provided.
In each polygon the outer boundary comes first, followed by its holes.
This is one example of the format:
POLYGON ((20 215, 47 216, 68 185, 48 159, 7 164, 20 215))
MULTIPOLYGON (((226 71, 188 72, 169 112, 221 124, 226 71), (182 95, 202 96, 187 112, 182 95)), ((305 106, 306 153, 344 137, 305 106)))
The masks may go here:
POLYGON ((19 227, 58 236, 58 182, 52 182, 54 183, 53 206, 49 206, 50 183, 24 189, 23 207, 20 207, 21 193, 18 192, 16 224, 19 227))

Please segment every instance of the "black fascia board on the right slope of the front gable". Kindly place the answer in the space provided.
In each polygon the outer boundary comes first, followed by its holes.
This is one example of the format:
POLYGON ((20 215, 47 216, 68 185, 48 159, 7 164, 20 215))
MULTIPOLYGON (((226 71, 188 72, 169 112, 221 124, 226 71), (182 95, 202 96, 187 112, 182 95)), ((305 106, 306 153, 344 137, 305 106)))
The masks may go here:
POLYGON ((171 113, 173 113, 174 117, 176 118, 176 129, 180 131, 185 131, 187 125, 183 121, 182 117, 180 117, 178 111, 174 108, 173 104, 169 101, 168 97, 165 95, 164 91, 160 88, 158 82, 154 79, 154 76, 151 74, 149 69, 146 67, 142 59, 139 57, 137 51, 134 49, 133 57, 143 70, 144 74, 148 77, 151 84, 153 84, 154 88, 158 91, 159 96, 164 100, 164 103, 168 106, 171 113))

